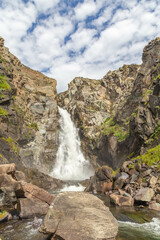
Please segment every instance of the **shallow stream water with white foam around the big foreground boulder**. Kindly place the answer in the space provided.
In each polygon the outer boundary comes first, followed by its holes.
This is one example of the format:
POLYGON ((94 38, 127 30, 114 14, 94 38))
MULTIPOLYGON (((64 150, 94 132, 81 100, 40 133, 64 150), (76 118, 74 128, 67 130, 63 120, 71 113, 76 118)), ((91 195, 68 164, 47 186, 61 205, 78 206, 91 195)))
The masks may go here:
MULTIPOLYGON (((83 191, 80 183, 66 182, 60 191, 83 191)), ((54 192, 58 194, 58 192, 54 192)), ((160 212, 148 210, 146 207, 117 207, 110 205, 105 195, 97 195, 118 220, 119 231, 116 240, 159 240, 160 239, 160 212)), ((8 210, 8 209, 6 209, 8 210)), ((1 240, 46 240, 47 237, 38 232, 43 218, 38 218, 35 227, 33 219, 12 220, 0 223, 1 240)))

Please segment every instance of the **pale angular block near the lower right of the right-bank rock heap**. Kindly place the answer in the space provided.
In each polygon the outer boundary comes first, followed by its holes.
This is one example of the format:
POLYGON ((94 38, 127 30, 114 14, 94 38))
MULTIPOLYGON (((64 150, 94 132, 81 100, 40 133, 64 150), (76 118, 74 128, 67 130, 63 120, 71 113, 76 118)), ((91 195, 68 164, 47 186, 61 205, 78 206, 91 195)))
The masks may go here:
POLYGON ((150 202, 154 196, 154 191, 152 188, 140 188, 134 199, 136 201, 150 202))

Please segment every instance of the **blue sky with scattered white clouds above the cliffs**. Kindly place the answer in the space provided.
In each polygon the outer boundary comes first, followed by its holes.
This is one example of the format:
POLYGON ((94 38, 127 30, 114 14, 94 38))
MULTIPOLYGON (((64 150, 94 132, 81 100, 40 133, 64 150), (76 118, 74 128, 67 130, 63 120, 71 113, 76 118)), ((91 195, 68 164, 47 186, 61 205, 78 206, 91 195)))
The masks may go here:
POLYGON ((159 0, 0 0, 0 35, 25 65, 57 80, 100 79, 141 63, 160 36, 159 0))

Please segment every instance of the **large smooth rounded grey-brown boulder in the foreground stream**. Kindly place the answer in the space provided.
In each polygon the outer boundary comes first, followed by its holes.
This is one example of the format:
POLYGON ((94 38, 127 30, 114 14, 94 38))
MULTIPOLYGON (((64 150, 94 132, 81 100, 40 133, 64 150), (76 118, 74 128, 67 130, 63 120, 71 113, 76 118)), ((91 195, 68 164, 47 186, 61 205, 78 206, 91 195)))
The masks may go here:
POLYGON ((40 227, 52 240, 114 240, 117 220, 97 197, 84 192, 60 193, 40 227))

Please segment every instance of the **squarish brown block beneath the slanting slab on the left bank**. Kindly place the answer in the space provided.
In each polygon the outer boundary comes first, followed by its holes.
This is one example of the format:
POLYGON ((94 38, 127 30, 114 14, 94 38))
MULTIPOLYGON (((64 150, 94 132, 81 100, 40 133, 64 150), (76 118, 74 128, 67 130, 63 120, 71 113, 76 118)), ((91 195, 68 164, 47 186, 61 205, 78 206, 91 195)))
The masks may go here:
POLYGON ((47 214, 49 205, 35 198, 19 198, 17 210, 20 218, 31 218, 47 214))

